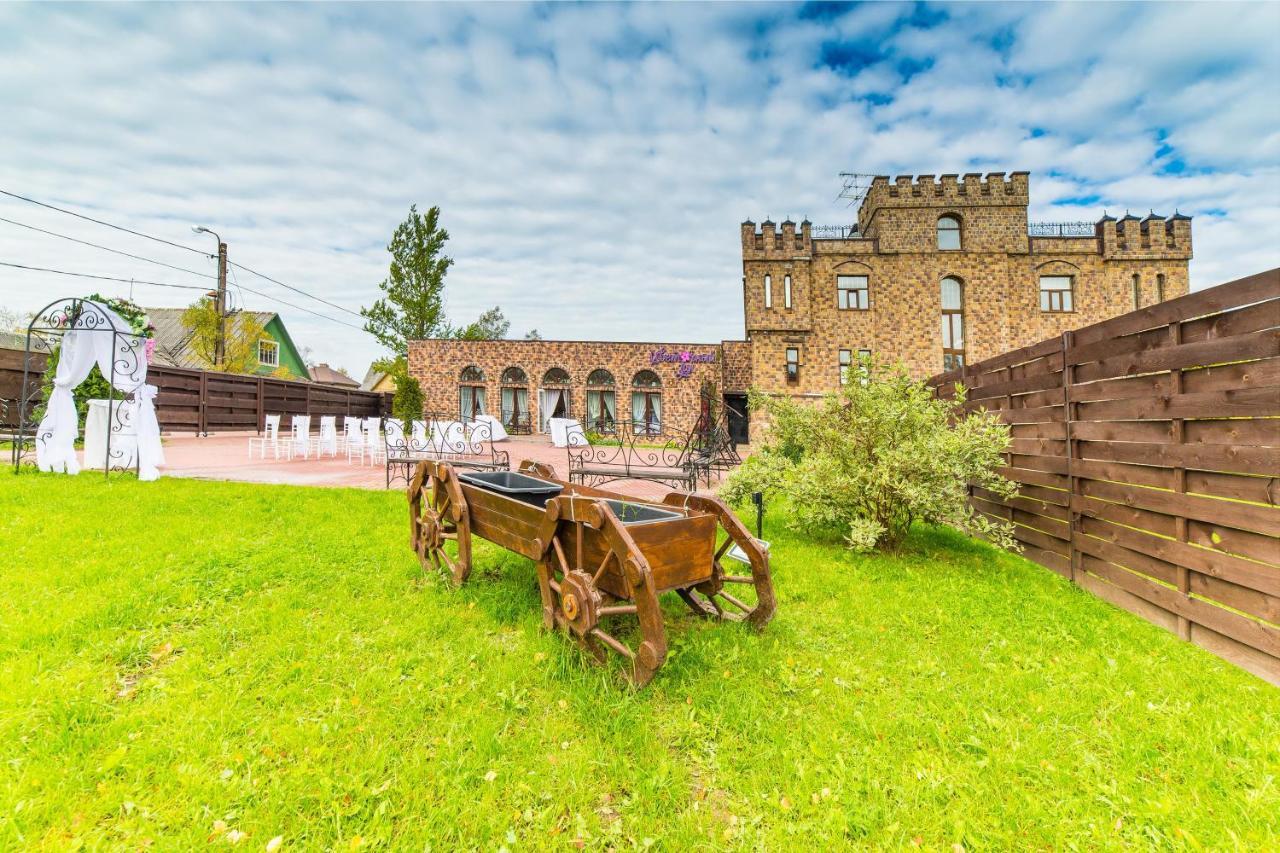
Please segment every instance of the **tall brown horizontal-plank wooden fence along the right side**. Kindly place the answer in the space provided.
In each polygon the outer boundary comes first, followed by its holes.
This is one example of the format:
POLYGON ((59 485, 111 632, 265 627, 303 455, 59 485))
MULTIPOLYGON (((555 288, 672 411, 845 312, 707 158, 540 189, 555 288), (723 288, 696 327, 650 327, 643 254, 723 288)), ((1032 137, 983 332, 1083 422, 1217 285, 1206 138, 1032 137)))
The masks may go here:
POLYGON ((1025 556, 1280 685, 1280 269, 929 383, 1010 424, 1025 556))

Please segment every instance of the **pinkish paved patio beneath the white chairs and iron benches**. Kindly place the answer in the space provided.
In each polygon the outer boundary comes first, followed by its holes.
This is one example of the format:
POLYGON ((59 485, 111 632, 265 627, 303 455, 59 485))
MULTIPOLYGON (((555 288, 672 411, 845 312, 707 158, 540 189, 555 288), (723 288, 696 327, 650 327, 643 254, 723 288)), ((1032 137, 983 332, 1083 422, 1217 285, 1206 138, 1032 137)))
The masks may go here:
MULTIPOLYGON (((160 469, 164 476, 189 476, 206 480, 241 480, 246 483, 276 483, 287 485, 343 485, 362 489, 387 488, 387 469, 381 462, 364 464, 347 461, 346 453, 337 457, 323 456, 292 460, 259 459, 257 448, 250 457, 248 439, 256 433, 221 433, 200 438, 192 434, 172 434, 164 437, 166 464, 160 469)), ((545 435, 512 435, 498 443, 499 450, 511 456, 511 466, 516 469, 524 460, 550 465, 556 475, 567 475, 567 455, 562 447, 552 447, 545 435)), ((714 475, 713 484, 717 482, 714 475)), ((392 488, 403 488, 403 482, 392 483, 392 488)), ((659 498, 671 491, 660 483, 648 480, 623 480, 611 484, 636 497, 659 498)))

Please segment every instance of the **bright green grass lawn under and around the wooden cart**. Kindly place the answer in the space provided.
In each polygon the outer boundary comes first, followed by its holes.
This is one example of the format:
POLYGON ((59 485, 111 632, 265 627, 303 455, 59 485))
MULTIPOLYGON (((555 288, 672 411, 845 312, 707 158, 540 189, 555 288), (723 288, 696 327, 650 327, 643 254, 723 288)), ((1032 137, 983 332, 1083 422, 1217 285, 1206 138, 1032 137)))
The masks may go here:
POLYGON ((771 528, 640 693, 399 492, 0 474, 0 848, 1280 844, 1280 690, 1019 557, 771 528))

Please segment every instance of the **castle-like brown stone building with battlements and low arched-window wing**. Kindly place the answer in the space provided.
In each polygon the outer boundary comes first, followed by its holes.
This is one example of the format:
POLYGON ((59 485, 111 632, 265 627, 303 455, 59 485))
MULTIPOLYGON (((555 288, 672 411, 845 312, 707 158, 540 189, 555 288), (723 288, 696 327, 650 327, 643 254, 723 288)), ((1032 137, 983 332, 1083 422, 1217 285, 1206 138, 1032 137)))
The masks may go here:
POLYGON ((749 388, 822 396, 860 356, 923 378, 1188 292, 1189 216, 1029 223, 1028 204, 1025 172, 877 177, 852 225, 742 223, 744 341, 417 341, 410 369, 429 410, 532 432, 685 433, 712 394, 746 441, 749 388))

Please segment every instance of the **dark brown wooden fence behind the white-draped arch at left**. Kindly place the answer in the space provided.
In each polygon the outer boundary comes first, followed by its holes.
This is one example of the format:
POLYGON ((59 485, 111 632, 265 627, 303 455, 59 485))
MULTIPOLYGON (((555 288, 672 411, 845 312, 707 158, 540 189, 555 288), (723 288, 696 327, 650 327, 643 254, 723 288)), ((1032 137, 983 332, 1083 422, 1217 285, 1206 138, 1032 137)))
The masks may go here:
MULTIPOLYGON (((0 350, 0 398, 14 401, 5 407, 4 425, 10 428, 18 423, 22 361, 22 352, 0 350)), ((165 365, 151 365, 147 383, 157 389, 160 429, 179 433, 259 430, 262 418, 274 414, 384 418, 392 402, 390 394, 371 391, 165 365)))

